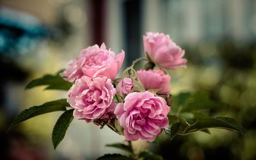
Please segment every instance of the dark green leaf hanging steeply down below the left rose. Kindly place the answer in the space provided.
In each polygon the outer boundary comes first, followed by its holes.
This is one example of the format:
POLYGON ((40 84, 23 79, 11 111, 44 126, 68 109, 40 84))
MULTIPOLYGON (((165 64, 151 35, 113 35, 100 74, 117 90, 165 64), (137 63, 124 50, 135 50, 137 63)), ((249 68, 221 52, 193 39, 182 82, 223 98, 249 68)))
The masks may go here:
POLYGON ((72 122, 74 109, 70 109, 62 113, 60 118, 58 118, 54 128, 52 130, 52 145, 54 149, 60 144, 60 142, 65 137, 68 126, 72 122))

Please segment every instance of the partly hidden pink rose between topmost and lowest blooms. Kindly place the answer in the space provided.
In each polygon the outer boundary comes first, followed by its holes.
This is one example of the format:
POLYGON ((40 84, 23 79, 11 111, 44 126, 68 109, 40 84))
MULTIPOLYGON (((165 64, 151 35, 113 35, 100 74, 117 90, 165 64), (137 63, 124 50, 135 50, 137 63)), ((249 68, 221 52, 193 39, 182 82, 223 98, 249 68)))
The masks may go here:
POLYGON ((146 90, 157 89, 158 94, 168 94, 172 89, 169 84, 171 77, 163 70, 138 70, 137 76, 146 90))

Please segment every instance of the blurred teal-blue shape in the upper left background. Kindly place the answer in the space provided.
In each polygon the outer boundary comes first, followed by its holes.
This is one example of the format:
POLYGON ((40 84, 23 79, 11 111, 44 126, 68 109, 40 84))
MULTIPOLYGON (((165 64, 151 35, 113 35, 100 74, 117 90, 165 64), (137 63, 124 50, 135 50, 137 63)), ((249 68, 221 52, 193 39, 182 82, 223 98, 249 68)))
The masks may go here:
POLYGON ((0 55, 28 54, 49 35, 49 29, 28 13, 0 7, 0 55))

